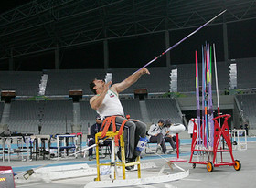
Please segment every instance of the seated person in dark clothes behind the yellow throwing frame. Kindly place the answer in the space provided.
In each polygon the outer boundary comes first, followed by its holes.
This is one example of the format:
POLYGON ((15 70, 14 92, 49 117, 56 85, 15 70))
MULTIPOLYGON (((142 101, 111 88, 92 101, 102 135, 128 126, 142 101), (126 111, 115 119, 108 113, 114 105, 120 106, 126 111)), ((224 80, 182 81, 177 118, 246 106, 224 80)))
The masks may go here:
MULTIPOLYGON (((91 125, 91 138, 89 140, 88 146, 91 146, 91 145, 95 144, 95 134, 98 133, 101 130, 101 123, 102 123, 101 116, 97 115, 96 116, 96 123, 91 125)), ((112 141, 106 140, 102 144, 104 146, 111 146, 112 141)), ((93 151, 93 148, 89 149, 89 161, 92 160, 92 151, 93 151)))

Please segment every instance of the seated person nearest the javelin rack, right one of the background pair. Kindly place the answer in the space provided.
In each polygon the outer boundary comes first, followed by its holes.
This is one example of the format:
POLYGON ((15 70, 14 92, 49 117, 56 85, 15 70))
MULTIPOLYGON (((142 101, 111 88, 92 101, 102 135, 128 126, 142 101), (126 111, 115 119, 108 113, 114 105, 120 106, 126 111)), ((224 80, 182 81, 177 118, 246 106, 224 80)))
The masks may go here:
POLYGON ((172 125, 172 122, 170 119, 165 120, 165 126, 162 129, 162 133, 164 135, 165 141, 168 141, 174 151, 176 151, 176 134, 169 131, 170 126, 172 125))

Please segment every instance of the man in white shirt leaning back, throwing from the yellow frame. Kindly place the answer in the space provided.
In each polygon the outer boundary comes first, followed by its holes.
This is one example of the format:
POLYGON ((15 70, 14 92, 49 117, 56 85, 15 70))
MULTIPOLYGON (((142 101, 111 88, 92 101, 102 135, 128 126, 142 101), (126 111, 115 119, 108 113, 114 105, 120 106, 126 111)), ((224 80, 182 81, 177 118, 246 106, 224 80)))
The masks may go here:
MULTIPOLYGON (((91 91, 96 94, 90 99, 91 108, 101 115, 101 119, 117 116, 115 124, 117 130, 120 129, 124 117, 123 106, 118 98, 118 94, 133 85, 142 75, 150 74, 147 68, 125 78, 121 83, 112 85, 112 81, 105 83, 104 80, 94 79, 90 83, 91 91), (112 85, 112 86, 111 86, 112 85)), ((141 151, 136 150, 140 138, 146 137, 146 125, 141 121, 127 121, 123 129, 123 140, 125 144, 125 158, 129 162, 134 162, 141 151)))

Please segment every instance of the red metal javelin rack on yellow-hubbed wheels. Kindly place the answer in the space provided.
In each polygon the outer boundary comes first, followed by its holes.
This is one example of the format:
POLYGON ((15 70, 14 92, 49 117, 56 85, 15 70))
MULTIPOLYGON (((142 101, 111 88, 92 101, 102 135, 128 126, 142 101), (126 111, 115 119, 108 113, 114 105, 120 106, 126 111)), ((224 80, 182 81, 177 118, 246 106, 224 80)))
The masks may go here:
MULTIPOLYGON (((234 160, 232 154, 232 145, 230 141, 229 135, 229 126, 228 126, 228 119, 230 118, 229 114, 221 115, 214 118, 214 144, 213 148, 206 148, 204 144, 201 144, 201 139, 197 137, 197 124, 194 121, 194 131, 191 143, 191 156, 189 163, 193 163, 193 168, 196 168, 196 164, 207 164, 208 172, 212 172, 214 167, 219 166, 233 166, 236 171, 240 170, 240 161, 234 160), (223 125, 220 127, 218 123, 218 119, 224 118, 223 125), (224 141, 223 145, 219 143, 219 141, 224 141), (224 146, 227 145, 228 148, 225 149, 224 146), (197 154, 195 154, 196 152, 197 154), (223 162, 222 153, 229 152, 231 162, 223 162), (220 154, 220 161, 217 161, 217 154, 220 154), (197 157, 197 161, 193 161, 193 156, 197 157), (202 158, 208 158, 203 159, 202 158)), ((200 137, 199 137, 200 138, 200 137)))

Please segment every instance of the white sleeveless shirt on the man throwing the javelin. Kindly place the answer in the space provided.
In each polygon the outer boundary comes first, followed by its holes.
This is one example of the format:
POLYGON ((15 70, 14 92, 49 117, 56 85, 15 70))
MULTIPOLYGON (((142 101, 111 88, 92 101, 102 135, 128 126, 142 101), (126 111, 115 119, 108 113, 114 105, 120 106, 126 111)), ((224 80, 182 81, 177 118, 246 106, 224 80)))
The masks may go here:
POLYGON ((111 89, 105 95, 100 109, 97 110, 103 120, 106 116, 121 115, 124 116, 123 106, 118 95, 111 89))

